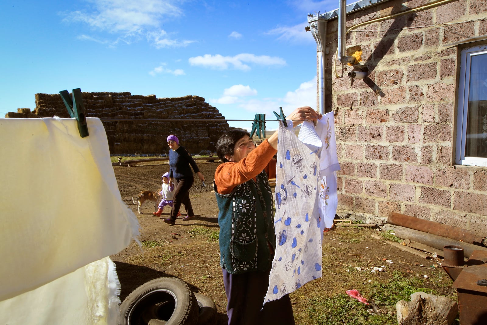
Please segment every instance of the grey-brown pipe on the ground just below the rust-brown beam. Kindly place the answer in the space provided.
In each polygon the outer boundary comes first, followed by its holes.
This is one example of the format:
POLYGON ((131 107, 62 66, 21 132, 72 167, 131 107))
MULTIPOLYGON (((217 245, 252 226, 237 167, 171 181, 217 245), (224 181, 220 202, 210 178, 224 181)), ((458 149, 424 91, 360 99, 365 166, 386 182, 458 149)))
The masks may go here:
POLYGON ((401 239, 411 239, 424 245, 434 247, 435 249, 443 249, 448 245, 460 246, 464 250, 465 257, 470 257, 474 250, 487 251, 487 247, 459 242, 458 240, 433 235, 431 233, 409 229, 400 226, 394 226, 394 231, 397 237, 401 239))

